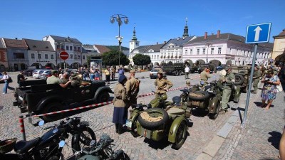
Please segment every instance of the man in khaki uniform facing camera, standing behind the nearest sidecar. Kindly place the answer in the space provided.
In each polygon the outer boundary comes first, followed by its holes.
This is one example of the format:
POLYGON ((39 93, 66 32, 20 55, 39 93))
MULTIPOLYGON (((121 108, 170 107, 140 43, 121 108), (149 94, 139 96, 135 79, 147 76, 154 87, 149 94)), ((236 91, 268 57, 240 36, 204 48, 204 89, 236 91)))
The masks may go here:
POLYGON ((157 79, 155 80, 155 87, 157 88, 155 91, 155 97, 162 96, 164 100, 167 100, 166 92, 170 87, 172 87, 172 85, 173 84, 170 80, 163 78, 163 73, 159 70, 157 73, 157 79))

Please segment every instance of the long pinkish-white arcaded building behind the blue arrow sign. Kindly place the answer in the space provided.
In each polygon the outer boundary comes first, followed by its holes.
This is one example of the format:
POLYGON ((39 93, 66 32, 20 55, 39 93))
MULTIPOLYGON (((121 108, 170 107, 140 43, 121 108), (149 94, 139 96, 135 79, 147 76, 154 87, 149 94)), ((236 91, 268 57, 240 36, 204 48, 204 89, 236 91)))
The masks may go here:
MULTIPOLYGON (((247 65, 252 63, 254 46, 244 43, 243 36, 232 33, 220 33, 199 36, 183 45, 182 60, 184 62, 214 65, 232 64, 247 65)), ((273 48, 272 43, 259 43, 257 49, 257 64, 267 64, 273 48)))

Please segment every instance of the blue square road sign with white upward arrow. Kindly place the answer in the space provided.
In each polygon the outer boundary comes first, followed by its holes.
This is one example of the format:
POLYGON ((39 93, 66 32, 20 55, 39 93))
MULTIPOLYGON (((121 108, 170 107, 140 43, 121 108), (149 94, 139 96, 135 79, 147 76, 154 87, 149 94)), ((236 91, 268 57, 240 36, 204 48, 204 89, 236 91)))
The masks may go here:
POLYGON ((245 43, 264 43, 269 41, 271 23, 261 23, 247 26, 245 43))

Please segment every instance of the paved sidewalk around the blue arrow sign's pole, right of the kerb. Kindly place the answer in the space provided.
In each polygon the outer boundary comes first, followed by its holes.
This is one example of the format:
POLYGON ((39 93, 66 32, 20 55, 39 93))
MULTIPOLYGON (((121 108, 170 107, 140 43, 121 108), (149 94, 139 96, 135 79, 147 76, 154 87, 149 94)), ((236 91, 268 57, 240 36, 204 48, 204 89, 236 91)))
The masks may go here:
MULTIPOLYGON (((261 85, 259 85, 261 87, 261 85)), ((279 141, 284 127, 284 92, 277 94, 270 110, 261 107, 261 90, 253 95, 246 128, 238 121, 214 159, 278 159, 279 141)), ((241 111, 242 116, 244 111, 241 111)))

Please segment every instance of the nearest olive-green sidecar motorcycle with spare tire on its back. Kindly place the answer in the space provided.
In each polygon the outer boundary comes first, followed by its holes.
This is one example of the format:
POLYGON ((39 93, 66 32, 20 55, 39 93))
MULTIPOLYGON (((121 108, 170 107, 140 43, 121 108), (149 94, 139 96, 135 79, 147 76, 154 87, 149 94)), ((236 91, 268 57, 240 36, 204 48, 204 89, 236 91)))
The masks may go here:
POLYGON ((175 104, 165 110, 155 107, 140 112, 135 125, 138 135, 154 141, 167 137, 173 149, 180 149, 187 137, 187 118, 190 117, 191 109, 181 103, 179 96, 172 100, 175 104))

